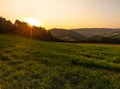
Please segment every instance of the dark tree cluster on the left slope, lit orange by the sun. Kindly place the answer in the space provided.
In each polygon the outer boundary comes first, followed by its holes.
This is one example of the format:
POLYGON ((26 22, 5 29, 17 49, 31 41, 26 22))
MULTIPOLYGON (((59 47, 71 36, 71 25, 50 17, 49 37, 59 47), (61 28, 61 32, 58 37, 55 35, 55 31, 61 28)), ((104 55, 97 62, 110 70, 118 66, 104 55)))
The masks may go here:
POLYGON ((59 41, 43 27, 30 26, 28 23, 19 20, 12 24, 10 20, 2 17, 0 17, 0 33, 13 33, 45 41, 59 41))

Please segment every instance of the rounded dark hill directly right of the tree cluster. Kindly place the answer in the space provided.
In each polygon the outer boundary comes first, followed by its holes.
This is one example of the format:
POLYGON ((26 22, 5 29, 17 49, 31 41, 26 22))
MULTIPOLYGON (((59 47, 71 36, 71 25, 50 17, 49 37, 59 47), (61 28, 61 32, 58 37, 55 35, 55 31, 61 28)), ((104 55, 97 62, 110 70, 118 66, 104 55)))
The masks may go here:
POLYGON ((49 32, 53 37, 56 37, 63 41, 81 41, 85 39, 85 37, 82 36, 81 34, 71 30, 54 28, 49 30, 49 32))

